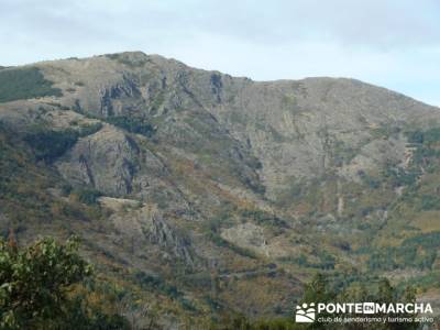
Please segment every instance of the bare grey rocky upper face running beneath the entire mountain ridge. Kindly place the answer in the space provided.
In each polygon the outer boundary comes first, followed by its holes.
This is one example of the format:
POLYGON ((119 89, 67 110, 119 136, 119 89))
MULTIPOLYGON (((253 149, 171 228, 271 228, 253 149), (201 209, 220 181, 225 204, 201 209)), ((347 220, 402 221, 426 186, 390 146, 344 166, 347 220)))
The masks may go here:
MULTIPOLYGON (((433 107, 353 79, 254 82, 142 53, 41 67, 59 88, 82 82, 66 94, 64 106, 102 117, 146 117, 160 141, 229 163, 242 183, 256 190, 264 186, 271 199, 288 188, 286 178, 336 169, 356 180, 359 170, 399 163, 405 136, 382 140, 377 132, 439 120, 433 107)), ((125 178, 130 170, 121 170, 125 178)))

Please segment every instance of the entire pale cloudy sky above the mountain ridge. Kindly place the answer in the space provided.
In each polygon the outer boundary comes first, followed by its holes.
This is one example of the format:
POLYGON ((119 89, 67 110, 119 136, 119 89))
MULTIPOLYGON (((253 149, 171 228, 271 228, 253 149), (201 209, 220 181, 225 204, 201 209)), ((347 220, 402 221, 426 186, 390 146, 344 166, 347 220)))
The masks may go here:
POLYGON ((440 0, 0 0, 0 65, 143 51, 255 80, 353 77, 440 106, 440 0))

